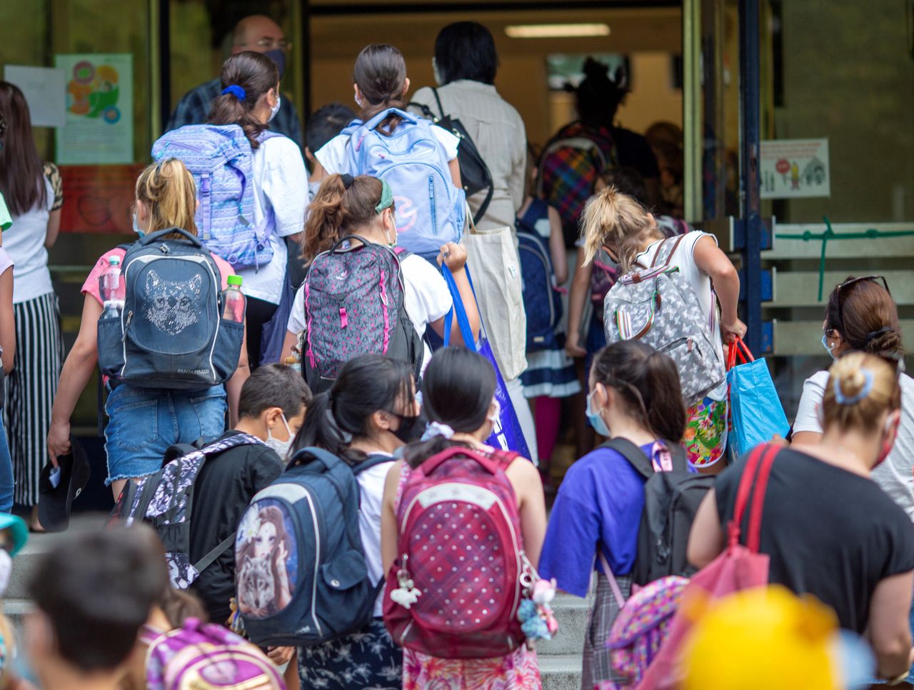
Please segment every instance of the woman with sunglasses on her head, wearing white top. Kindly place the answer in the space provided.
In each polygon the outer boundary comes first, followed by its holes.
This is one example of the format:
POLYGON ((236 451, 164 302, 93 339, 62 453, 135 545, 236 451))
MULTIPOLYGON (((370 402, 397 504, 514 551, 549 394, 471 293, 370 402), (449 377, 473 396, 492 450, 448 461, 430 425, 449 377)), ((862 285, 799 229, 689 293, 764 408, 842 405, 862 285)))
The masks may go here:
MULTIPOLYGON (((904 349, 898 330, 898 307, 882 276, 848 278, 828 296, 822 324, 822 345, 833 359, 850 352, 882 357, 904 371, 904 349)), ((822 438, 820 407, 827 371, 819 371, 803 383, 800 407, 793 422, 793 442, 810 443, 822 438)), ((898 440, 886 462, 873 471, 875 481, 889 498, 914 520, 914 379, 902 374, 901 423, 898 440)))

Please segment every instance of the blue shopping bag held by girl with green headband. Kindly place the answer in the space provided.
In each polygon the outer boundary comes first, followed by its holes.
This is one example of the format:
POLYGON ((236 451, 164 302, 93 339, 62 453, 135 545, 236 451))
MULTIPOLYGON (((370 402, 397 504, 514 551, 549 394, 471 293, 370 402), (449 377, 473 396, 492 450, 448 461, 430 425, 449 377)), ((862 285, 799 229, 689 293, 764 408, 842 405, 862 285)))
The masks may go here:
MULTIPOLYGON (((469 269, 464 270, 467 271, 466 275, 469 279, 469 269)), ((499 415, 498 422, 494 425, 492 435, 486 440, 486 443, 493 448, 501 448, 503 451, 515 451, 525 458, 529 458, 530 449, 526 445, 524 431, 520 428, 520 422, 517 420, 514 405, 511 403, 511 398, 508 396, 507 387, 505 387, 505 379, 502 377, 501 371, 498 370, 498 363, 495 362, 492 346, 489 345, 489 341, 485 336, 485 327, 481 326, 482 333, 480 334, 479 341, 474 342, 473 329, 470 328, 470 317, 467 316, 466 308, 463 306, 463 300, 460 291, 457 289, 457 283, 454 281, 451 270, 444 266, 442 267, 441 273, 444 276, 444 281, 448 284, 448 288, 451 290, 451 297, 454 303, 452 310, 444 317, 444 346, 447 347, 450 345, 451 326, 453 318, 456 315, 457 325, 460 327, 460 332, 463 336, 463 343, 469 349, 488 359, 495 370, 495 399, 498 400, 498 404, 501 406, 502 411, 499 415)), ((470 285, 471 287, 473 286, 472 280, 470 281, 470 285)))

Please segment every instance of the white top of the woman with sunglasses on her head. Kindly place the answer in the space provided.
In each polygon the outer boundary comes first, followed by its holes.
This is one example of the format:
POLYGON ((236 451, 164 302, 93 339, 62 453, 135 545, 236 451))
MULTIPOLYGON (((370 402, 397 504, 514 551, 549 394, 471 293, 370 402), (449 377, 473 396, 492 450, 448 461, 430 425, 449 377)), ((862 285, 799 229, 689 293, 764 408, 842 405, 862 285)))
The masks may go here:
MULTIPOLYGON (((871 476, 887 496, 900 505, 914 520, 914 378, 907 374, 900 378, 901 383, 901 423, 898 425, 898 438, 892 451, 871 476)), ((793 422, 793 432, 814 431, 822 433, 822 421, 819 419, 819 406, 825 395, 828 384, 828 372, 817 371, 807 378, 802 385, 800 407, 793 422)))

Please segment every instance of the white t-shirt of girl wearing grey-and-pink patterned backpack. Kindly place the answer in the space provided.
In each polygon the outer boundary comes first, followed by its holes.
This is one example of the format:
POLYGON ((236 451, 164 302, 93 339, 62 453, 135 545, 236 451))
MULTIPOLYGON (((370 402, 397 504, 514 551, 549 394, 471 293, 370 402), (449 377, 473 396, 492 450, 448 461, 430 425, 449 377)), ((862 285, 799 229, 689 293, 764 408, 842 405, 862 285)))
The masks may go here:
MULTIPOLYGON (((416 333, 422 337, 429 324, 451 311, 451 291, 441 273, 416 254, 410 254, 406 259, 400 260, 400 267, 403 271, 403 305, 409 314, 409 321, 416 328, 416 333)), ((288 329, 296 335, 304 330, 304 286, 295 293, 288 329)), ((425 371, 431 357, 429 345, 425 344, 424 347, 422 371, 425 371)))

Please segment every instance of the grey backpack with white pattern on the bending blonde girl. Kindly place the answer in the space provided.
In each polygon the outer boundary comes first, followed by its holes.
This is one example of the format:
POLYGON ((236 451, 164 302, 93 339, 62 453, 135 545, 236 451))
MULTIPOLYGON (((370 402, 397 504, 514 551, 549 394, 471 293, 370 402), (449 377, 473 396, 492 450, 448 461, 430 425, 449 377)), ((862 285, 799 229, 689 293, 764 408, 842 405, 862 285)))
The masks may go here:
POLYGON ((671 356, 688 406, 723 383, 727 374, 723 353, 711 340, 716 309, 712 305, 709 323, 692 286, 670 265, 683 238, 664 239, 648 269, 624 275, 612 286, 603 307, 603 328, 607 345, 634 338, 671 356))

